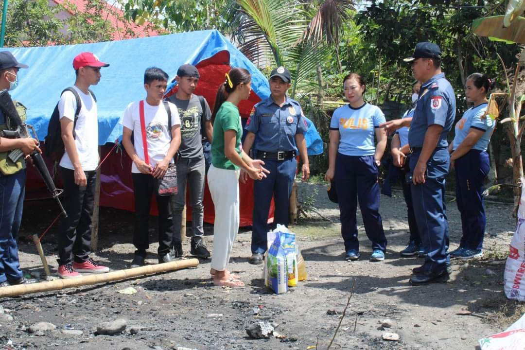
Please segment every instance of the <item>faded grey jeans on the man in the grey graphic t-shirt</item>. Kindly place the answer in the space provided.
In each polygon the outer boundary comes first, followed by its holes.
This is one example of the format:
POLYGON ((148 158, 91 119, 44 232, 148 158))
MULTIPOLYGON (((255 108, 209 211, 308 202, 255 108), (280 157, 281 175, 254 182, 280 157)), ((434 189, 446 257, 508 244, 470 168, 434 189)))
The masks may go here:
POLYGON ((186 183, 190 187, 190 205, 192 206, 193 237, 204 236, 204 176, 205 160, 201 158, 179 158, 177 160, 177 194, 171 196, 173 216, 173 241, 181 242, 182 210, 186 204, 186 183))

